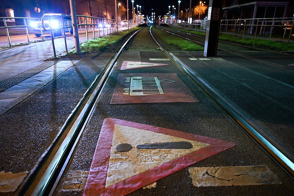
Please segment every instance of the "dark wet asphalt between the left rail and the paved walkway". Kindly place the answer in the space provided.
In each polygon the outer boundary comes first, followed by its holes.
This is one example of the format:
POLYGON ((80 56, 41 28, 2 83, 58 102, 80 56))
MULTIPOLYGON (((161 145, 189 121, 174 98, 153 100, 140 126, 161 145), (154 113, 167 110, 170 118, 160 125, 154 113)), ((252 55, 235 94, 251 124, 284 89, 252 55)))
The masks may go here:
POLYGON ((59 58, 72 66, 0 117, 0 171, 31 171, 115 53, 59 58), (76 60, 72 64, 70 60, 76 60))

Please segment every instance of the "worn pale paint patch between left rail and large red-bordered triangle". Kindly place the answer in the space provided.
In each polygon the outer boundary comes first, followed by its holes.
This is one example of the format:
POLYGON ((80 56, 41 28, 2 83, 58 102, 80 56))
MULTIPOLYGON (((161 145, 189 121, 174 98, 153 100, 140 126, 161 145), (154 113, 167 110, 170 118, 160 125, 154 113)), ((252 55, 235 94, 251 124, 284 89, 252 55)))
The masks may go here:
POLYGON ((89 171, 70 171, 61 185, 61 191, 84 191, 89 171))

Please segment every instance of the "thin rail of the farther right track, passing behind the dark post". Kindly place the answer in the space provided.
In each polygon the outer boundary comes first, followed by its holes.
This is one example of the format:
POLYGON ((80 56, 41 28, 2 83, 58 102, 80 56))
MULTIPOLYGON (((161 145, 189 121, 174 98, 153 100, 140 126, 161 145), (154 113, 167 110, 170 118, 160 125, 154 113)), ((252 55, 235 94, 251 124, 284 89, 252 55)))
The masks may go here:
MULTIPOLYGON (((201 45, 205 45, 204 43, 197 42, 197 41, 195 41, 195 40, 193 40, 193 39, 185 38, 185 37, 180 36, 180 35, 177 35, 177 34, 175 34, 175 33, 171 33, 171 32, 169 32, 169 31, 166 31, 166 30, 164 30, 164 29, 162 29, 162 28, 160 28, 160 29, 161 29, 162 31, 165 31, 166 33, 170 33, 170 34, 175 35, 175 36, 178 36, 178 37, 180 37, 180 38, 187 39, 187 40, 189 40, 189 41, 191 41, 191 42, 195 42, 195 43, 198 43, 198 44, 201 44, 201 45)), ((175 30, 175 31, 176 31, 176 30, 175 30)), ((180 32, 181 32, 181 31, 180 31, 180 32)), ((185 32, 181 32, 181 33, 185 33, 185 32)), ((187 33, 187 34, 190 34, 190 33, 187 33)), ((190 34, 190 35, 193 35, 193 34, 190 34)), ((199 35, 195 35, 195 36, 198 36, 198 37, 203 38, 202 36, 199 36, 199 35)), ((228 42, 226 42, 226 43, 228 43, 228 42)), ((231 43, 230 43, 230 44, 231 44, 231 43)), ((287 70, 287 71, 294 72, 294 69, 287 68, 287 67, 285 67, 285 66, 283 66, 283 65, 279 65, 279 64, 276 64, 276 63, 271 63, 271 62, 268 62, 268 61, 265 61, 265 60, 261 60, 261 59, 259 59, 259 58, 250 57, 250 56, 247 56, 247 55, 245 55, 245 54, 240 54, 240 53, 233 52, 233 51, 226 50, 226 49, 222 49, 222 48, 217 48, 217 49, 219 49, 219 50, 221 50, 221 51, 228 52, 228 53, 235 54, 235 55, 240 56, 240 57, 248 58, 248 59, 251 59, 251 60, 254 60, 254 61, 260 62, 260 63, 264 63, 264 64, 267 64, 267 65, 271 65, 271 66, 274 66, 274 67, 278 67, 278 68, 281 68, 281 69, 285 69, 285 70, 287 70)), ((272 52, 272 51, 271 51, 271 52, 272 52)))

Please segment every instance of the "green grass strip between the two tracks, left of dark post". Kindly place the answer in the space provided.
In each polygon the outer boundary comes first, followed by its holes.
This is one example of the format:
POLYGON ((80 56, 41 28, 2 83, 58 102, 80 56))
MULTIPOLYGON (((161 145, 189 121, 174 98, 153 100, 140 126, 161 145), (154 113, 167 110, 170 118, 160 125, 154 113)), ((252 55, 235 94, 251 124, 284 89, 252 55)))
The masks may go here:
POLYGON ((166 33, 158 28, 152 28, 154 33, 169 45, 175 45, 185 51, 204 51, 204 48, 188 40, 166 33))

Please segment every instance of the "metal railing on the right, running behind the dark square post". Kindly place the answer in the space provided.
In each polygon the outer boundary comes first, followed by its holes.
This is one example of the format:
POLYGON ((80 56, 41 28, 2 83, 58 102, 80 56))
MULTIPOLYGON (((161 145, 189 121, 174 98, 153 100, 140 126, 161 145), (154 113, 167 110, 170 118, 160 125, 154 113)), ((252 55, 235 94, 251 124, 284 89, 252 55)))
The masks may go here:
MULTIPOLYGON (((272 36, 278 36, 282 39, 290 38, 293 33, 294 18, 248 18, 248 19, 232 19, 221 20, 221 33, 231 34, 233 36, 245 36, 245 33, 251 35, 254 38, 258 36, 268 36, 272 39, 272 36)), ((195 31, 206 31, 207 21, 194 21, 190 24, 190 29, 195 31)), ((172 23, 175 28, 188 29, 189 24, 184 23, 172 23)))

